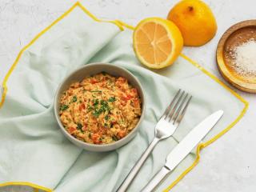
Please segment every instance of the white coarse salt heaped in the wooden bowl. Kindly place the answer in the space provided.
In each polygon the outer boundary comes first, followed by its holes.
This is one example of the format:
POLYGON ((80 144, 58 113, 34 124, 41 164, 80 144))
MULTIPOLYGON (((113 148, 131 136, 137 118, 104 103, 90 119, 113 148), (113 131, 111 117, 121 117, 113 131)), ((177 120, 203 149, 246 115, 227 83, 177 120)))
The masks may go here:
POLYGON ((256 40, 250 38, 240 46, 234 47, 233 54, 234 70, 238 74, 256 74, 256 40))

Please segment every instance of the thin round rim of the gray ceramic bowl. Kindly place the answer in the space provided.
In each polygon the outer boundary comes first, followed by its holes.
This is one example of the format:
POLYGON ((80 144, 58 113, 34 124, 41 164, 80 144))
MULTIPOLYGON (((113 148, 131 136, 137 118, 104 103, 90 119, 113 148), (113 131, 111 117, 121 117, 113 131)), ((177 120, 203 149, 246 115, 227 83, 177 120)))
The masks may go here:
MULTIPOLYGON (((94 147, 94 148, 104 148, 104 147, 110 147, 110 146, 117 146, 118 144, 121 144, 121 146, 125 145, 126 143, 122 144, 122 142, 124 142, 126 139, 129 138, 129 135, 132 135, 135 131, 138 130, 143 118, 144 118, 144 114, 145 114, 145 110, 146 110, 146 102, 145 102, 145 94, 144 94, 144 90, 142 88, 142 84, 141 82, 139 82, 138 78, 136 78, 134 76, 134 74, 130 73, 129 70, 126 70, 126 68, 122 67, 122 66, 116 66, 115 64, 111 64, 111 63, 107 63, 107 62, 92 62, 92 63, 88 63, 86 65, 83 65, 83 66, 80 66, 78 67, 76 70, 73 70, 70 72, 70 74, 68 74, 66 76, 66 78, 63 78, 62 79, 62 82, 59 83, 58 85, 58 89, 55 91, 55 95, 54 95, 54 116, 55 116, 55 119, 57 120, 58 122, 58 126, 61 128, 62 131, 64 131, 65 135, 67 137, 69 137, 71 140, 74 140, 75 142, 78 142, 80 145, 82 146, 89 146, 89 147, 94 147), (88 143, 88 142, 82 142, 80 141, 78 138, 74 138, 71 134, 69 134, 64 126, 62 125, 62 122, 59 118, 59 114, 58 114, 58 109, 57 109, 57 105, 58 105, 58 95, 60 95, 60 89, 61 87, 63 86, 63 84, 66 82, 66 80, 70 77, 72 77, 75 73, 77 73, 79 70, 83 70, 84 68, 87 68, 89 66, 101 66, 101 65, 106 65, 106 66, 111 66, 111 67, 114 67, 114 68, 118 68, 118 70, 123 70, 125 71, 127 74, 130 75, 130 77, 134 78, 135 82, 138 83, 138 86, 140 87, 140 89, 142 90, 142 95, 139 95, 141 98, 142 98, 142 114, 141 114, 141 117, 139 118, 139 121, 138 123, 136 124, 136 126, 134 127, 133 130, 130 131, 129 134, 127 134, 124 138, 121 138, 119 139, 118 141, 115 141, 115 142, 111 142, 111 143, 108 143, 108 144, 101 144, 101 145, 98 145, 98 144, 92 144, 92 143, 88 143)), ((130 139, 131 141, 131 139, 130 139)), ((128 142, 130 142, 128 141, 128 142)), ((120 147, 121 147, 120 146, 120 147)), ((118 147, 119 148, 119 147, 118 147)))

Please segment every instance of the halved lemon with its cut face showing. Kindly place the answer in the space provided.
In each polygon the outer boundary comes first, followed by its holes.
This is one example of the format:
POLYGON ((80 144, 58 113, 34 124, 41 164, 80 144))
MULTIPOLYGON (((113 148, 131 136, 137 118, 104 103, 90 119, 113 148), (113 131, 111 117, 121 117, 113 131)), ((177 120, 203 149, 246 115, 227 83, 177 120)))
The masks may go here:
POLYGON ((164 18, 146 18, 134 30, 134 52, 138 60, 150 68, 170 66, 182 47, 180 30, 164 18))

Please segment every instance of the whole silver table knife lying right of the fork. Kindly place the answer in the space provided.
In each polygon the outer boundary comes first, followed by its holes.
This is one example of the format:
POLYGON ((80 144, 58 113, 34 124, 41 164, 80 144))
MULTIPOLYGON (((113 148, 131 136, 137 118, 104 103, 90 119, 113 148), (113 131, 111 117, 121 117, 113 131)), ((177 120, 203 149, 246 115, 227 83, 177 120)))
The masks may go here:
POLYGON ((175 146, 174 150, 168 154, 166 158, 166 164, 158 171, 157 174, 151 178, 150 182, 144 186, 141 192, 150 192, 158 186, 158 183, 161 182, 167 174, 169 174, 188 154, 197 146, 198 142, 202 140, 208 134, 208 132, 214 127, 220 118, 222 118, 223 111, 218 110, 213 114, 210 114, 202 122, 195 126, 181 142, 178 143, 178 146, 175 146))

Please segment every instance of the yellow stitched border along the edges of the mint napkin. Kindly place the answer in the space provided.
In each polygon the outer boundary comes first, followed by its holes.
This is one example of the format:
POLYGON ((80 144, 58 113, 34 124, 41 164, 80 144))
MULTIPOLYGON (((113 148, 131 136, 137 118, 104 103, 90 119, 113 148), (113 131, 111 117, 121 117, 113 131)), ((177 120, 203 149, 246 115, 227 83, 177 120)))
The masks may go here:
MULTIPOLYGON (((113 20, 113 21, 106 21, 106 20, 101 20, 98 19, 97 17, 94 16, 94 14, 91 14, 89 10, 86 9, 86 7, 82 6, 82 4, 80 2, 76 2, 74 3, 74 5, 67 10, 64 14, 62 14, 59 18, 57 18, 53 23, 50 24, 50 26, 47 26, 46 29, 42 30, 38 35, 36 35, 32 41, 27 44, 26 46, 24 46, 22 48, 22 50, 19 52, 18 57, 15 59, 13 65, 10 67, 10 70, 7 72, 3 82, 2 82, 2 87, 3 87, 3 93, 2 93, 2 100, 0 102, 0 109, 3 105, 3 103, 5 102, 5 98, 6 98, 6 93, 7 93, 7 81, 10 78, 10 74, 13 72, 15 66, 17 65, 19 59, 21 58, 23 52, 29 47, 31 46, 40 36, 42 36, 42 34, 46 33, 47 30, 50 30, 50 28, 52 26, 54 26, 56 23, 58 23, 60 20, 62 20, 62 18, 65 18, 66 15, 70 14, 70 12, 72 10, 74 10, 75 7, 80 7, 86 14, 88 14, 90 16, 90 18, 93 18, 94 21, 96 22, 110 22, 113 23, 114 25, 118 26, 120 30, 124 30, 124 27, 130 29, 130 30, 134 30, 134 26, 130 26, 128 24, 126 24, 125 22, 119 21, 119 20, 113 20)), ((241 111, 241 113, 238 115, 238 118, 236 118, 234 120, 234 122, 232 122, 229 126, 226 127, 226 129, 222 130, 220 133, 218 133, 217 135, 215 135, 213 138, 211 138, 209 141, 207 142, 203 142, 201 144, 199 144, 197 146, 197 157, 195 159, 195 161, 193 162, 193 164, 187 168, 173 183, 170 184, 170 186, 168 186, 164 191, 170 191, 186 174, 188 174, 190 172, 190 170, 192 170, 194 168, 194 166, 196 166, 200 160, 200 151, 205 148, 206 146, 209 146, 211 143, 215 142, 218 138, 222 137, 223 134, 226 134, 227 131, 229 131, 241 118, 242 116, 246 113, 246 110, 249 107, 249 103, 242 98, 239 94, 237 94, 234 90, 231 90, 229 86, 226 86, 226 84, 224 82, 222 82, 220 79, 218 79, 216 76, 214 76, 214 74, 211 74, 208 70, 206 70, 205 68, 203 68, 202 66, 198 65, 197 62, 194 62, 192 59, 188 58, 185 54, 181 54, 180 55, 182 58, 186 59, 188 62, 190 62, 192 65, 196 66, 199 70, 202 70, 202 72, 206 75, 208 75, 210 78, 212 78, 215 82, 218 82, 218 84, 222 87, 224 87, 226 90, 229 90, 231 94, 233 94, 236 98, 238 98, 242 103, 244 103, 244 108, 241 111)), ((34 192, 38 192, 38 190, 45 190, 47 192, 52 192, 53 190, 50 190, 46 187, 43 186, 38 186, 36 184, 30 183, 30 182, 5 182, 0 184, 0 187, 2 186, 30 186, 32 188, 34 188, 34 192)))

